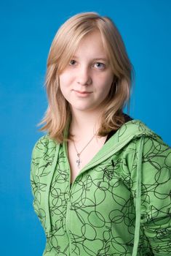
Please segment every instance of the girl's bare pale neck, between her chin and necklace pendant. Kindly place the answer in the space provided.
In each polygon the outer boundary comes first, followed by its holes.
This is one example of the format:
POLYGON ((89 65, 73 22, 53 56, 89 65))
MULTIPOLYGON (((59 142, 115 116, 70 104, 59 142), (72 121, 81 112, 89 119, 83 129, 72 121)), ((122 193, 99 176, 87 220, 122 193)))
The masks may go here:
POLYGON ((100 128, 100 113, 97 112, 84 112, 72 111, 72 121, 70 126, 71 134, 80 138, 90 138, 93 134, 97 133, 100 128))

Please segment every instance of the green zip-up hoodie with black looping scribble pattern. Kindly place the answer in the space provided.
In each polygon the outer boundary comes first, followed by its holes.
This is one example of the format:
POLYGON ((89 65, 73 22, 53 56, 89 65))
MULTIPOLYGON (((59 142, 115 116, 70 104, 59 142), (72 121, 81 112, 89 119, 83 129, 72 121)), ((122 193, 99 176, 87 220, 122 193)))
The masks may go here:
POLYGON ((138 120, 124 124, 70 186, 66 143, 33 148, 33 207, 44 256, 171 255, 171 148, 138 120))

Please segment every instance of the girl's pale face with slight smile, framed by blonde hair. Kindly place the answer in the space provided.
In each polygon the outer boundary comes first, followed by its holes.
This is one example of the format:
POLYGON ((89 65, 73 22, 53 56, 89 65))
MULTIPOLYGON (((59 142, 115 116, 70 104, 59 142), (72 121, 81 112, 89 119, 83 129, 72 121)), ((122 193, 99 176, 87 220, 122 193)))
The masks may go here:
POLYGON ((100 32, 93 31, 81 40, 60 74, 60 90, 72 111, 100 110, 113 79, 100 32))

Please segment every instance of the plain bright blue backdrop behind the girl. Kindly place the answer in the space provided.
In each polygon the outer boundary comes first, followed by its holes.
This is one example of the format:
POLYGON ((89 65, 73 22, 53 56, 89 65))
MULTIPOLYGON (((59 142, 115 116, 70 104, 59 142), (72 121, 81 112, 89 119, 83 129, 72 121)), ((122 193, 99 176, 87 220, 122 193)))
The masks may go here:
POLYGON ((39 256, 44 231, 33 212, 31 151, 47 108, 44 91, 49 46, 59 26, 77 12, 111 17, 135 67, 131 116, 171 145, 170 0, 1 1, 1 255, 39 256))

